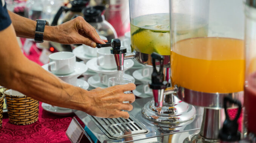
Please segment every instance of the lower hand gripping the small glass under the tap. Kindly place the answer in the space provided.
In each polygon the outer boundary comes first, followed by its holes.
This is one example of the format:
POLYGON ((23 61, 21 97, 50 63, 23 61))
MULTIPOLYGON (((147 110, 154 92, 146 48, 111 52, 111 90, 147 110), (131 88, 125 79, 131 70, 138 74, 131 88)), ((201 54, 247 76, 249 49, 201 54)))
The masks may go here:
POLYGON ((131 111, 133 106, 129 103, 123 103, 123 101, 132 103, 135 101, 135 96, 132 93, 125 94, 124 92, 134 89, 136 89, 135 84, 130 83, 91 90, 87 99, 88 105, 84 107, 85 112, 97 117, 123 117, 127 119, 129 117, 128 112, 121 110, 131 111))

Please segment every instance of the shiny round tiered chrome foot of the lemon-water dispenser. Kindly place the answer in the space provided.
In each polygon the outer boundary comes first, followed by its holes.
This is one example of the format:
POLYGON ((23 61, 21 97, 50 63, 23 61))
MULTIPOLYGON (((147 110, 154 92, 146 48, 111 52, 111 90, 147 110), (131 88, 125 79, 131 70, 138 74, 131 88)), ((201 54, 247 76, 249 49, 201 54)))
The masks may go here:
POLYGON ((143 106, 142 114, 143 117, 154 122, 174 124, 194 119, 196 108, 182 101, 176 104, 163 104, 163 107, 155 107, 154 99, 152 99, 143 106))

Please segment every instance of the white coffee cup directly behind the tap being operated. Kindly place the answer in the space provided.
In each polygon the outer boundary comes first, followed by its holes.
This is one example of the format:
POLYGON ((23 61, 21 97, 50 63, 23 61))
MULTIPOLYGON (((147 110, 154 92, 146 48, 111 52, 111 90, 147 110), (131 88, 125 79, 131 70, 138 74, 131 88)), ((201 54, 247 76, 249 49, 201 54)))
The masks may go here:
POLYGON ((110 53, 111 47, 97 50, 97 65, 103 69, 117 69, 114 55, 110 53))

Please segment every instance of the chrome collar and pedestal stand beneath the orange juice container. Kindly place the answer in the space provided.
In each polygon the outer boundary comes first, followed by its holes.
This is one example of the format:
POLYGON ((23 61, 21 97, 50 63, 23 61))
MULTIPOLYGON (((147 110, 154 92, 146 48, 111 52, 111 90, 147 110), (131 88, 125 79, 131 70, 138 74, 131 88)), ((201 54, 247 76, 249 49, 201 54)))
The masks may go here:
MULTIPOLYGON (((244 92, 236 93, 204 93, 184 87, 176 89, 176 96, 182 101, 195 106, 204 107, 204 114, 201 129, 197 134, 190 135, 184 140, 184 143, 220 143, 219 131, 222 128, 224 114, 224 97, 236 99, 242 102, 244 92)), ((227 105, 227 108, 237 108, 233 104, 227 105)))

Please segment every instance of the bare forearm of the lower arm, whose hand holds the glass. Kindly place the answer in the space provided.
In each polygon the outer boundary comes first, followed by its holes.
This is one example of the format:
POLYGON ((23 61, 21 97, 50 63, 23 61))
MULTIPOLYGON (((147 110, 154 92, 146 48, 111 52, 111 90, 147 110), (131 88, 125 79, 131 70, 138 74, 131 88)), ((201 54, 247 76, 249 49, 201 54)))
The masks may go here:
POLYGON ((19 66, 9 67, 9 69, 12 70, 10 72, 13 77, 7 86, 31 98, 77 110, 83 107, 81 102, 88 101, 85 99, 86 96, 79 96, 82 95, 81 93, 88 95, 88 91, 63 82, 28 59, 20 62, 19 66))

